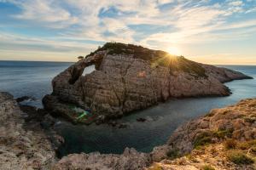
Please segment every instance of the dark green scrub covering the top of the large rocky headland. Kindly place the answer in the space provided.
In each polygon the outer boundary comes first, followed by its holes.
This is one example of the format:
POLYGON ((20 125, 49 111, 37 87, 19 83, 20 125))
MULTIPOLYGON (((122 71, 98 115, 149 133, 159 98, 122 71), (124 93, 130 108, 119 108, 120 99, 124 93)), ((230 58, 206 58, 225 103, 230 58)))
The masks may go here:
POLYGON ((161 50, 153 50, 143 48, 133 44, 125 44, 120 42, 107 42, 102 48, 98 48, 95 52, 90 53, 88 56, 96 54, 99 51, 107 50, 108 54, 127 54, 133 55, 136 59, 148 60, 156 67, 157 65, 166 66, 173 71, 183 71, 191 74, 194 77, 207 78, 205 69, 194 61, 185 59, 183 56, 175 56, 168 54, 161 50))

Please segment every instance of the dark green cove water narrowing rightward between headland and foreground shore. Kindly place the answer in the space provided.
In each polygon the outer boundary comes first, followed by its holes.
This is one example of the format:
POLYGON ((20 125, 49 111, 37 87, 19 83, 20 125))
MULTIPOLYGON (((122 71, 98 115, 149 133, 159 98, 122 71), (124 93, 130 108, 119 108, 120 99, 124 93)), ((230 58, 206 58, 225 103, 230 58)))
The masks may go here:
POLYGON ((171 99, 117 120, 127 124, 126 128, 107 124, 73 125, 61 121, 55 125, 55 130, 65 139, 65 144, 59 149, 59 156, 93 151, 120 154, 125 147, 149 152, 154 146, 165 144, 172 132, 183 122, 206 115, 211 109, 235 104, 240 99, 256 97, 256 66, 224 67, 241 71, 254 79, 225 83, 233 93, 228 97, 171 99), (147 118, 148 121, 137 122, 140 117, 147 118))

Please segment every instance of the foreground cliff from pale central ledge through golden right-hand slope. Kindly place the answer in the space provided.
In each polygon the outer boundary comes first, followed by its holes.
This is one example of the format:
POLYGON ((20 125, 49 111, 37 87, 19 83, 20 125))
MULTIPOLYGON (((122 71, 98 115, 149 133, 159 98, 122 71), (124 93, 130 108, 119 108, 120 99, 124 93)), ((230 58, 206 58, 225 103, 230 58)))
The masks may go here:
POLYGON ((256 99, 214 109, 178 127, 166 144, 149 154, 72 154, 54 169, 253 170, 256 167, 256 99))

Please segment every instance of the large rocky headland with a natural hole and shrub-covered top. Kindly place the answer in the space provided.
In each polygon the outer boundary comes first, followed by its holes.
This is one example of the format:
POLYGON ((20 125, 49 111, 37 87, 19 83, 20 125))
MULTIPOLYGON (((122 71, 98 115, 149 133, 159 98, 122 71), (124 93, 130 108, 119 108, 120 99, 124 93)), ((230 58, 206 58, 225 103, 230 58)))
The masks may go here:
POLYGON ((243 78, 249 77, 163 51, 107 43, 55 77, 53 94, 44 98, 44 106, 71 120, 61 102, 90 109, 95 117, 113 118, 169 98, 229 95, 222 82, 243 78), (88 65, 95 65, 96 71, 83 76, 88 65))

